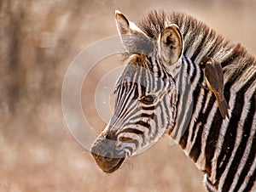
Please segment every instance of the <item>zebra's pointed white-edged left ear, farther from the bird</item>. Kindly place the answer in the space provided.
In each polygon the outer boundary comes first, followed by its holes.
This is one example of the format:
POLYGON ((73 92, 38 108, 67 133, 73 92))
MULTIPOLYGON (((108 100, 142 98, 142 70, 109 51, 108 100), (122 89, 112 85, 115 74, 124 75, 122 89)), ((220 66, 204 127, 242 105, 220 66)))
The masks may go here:
POLYGON ((123 38, 125 35, 140 34, 147 37, 147 35, 137 25, 130 20, 127 20, 125 15, 121 14, 118 10, 115 11, 115 22, 122 42, 124 42, 123 38))

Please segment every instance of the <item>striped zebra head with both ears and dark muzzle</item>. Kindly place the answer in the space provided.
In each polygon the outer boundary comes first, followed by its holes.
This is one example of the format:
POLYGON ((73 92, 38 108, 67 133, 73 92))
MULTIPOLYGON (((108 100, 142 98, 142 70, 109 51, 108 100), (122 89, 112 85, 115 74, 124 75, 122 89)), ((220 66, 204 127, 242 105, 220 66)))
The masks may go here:
POLYGON ((167 25, 152 38, 118 11, 115 19, 126 66, 113 93, 113 117, 91 148, 104 172, 114 172, 126 157, 146 150, 164 133, 172 132, 177 88, 167 66, 181 62, 183 53, 177 25, 167 25))

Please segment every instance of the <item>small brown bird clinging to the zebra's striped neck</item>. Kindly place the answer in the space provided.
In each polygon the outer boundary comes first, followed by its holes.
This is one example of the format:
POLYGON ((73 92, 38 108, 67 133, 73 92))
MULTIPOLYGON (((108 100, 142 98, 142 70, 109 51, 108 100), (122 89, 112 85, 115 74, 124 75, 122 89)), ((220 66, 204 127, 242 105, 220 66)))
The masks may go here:
POLYGON ((226 116, 230 118, 228 111, 230 106, 224 98, 224 75, 221 65, 218 61, 209 57, 201 59, 200 65, 204 69, 207 87, 212 91, 212 93, 214 93, 217 99, 218 109, 221 116, 223 118, 226 116))

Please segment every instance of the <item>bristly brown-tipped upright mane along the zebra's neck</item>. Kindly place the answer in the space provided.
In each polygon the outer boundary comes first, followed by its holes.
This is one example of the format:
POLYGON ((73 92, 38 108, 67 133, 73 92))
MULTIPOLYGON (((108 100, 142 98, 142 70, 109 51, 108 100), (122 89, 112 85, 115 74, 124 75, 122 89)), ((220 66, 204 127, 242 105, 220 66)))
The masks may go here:
POLYGON ((171 24, 176 24, 180 28, 185 45, 184 54, 195 63, 199 63, 204 56, 210 56, 222 63, 223 67, 236 63, 229 66, 231 71, 242 69, 244 65, 256 65, 255 58, 248 54, 247 49, 240 43, 230 43, 209 26, 188 14, 153 10, 137 22, 138 27, 153 39, 157 39, 160 32, 171 24), (193 58, 197 55, 200 57, 193 58))

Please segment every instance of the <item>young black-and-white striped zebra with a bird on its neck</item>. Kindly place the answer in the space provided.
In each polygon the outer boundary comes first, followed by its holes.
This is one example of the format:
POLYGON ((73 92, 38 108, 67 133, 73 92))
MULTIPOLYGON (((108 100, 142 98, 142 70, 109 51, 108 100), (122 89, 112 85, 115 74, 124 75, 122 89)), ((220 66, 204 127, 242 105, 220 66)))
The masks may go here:
POLYGON ((125 70, 113 91, 114 113, 91 154, 103 172, 170 135, 205 173, 208 191, 256 191, 256 61, 203 22, 151 11, 137 24, 115 13, 125 70), (229 118, 206 88, 201 59, 224 73, 229 118))

